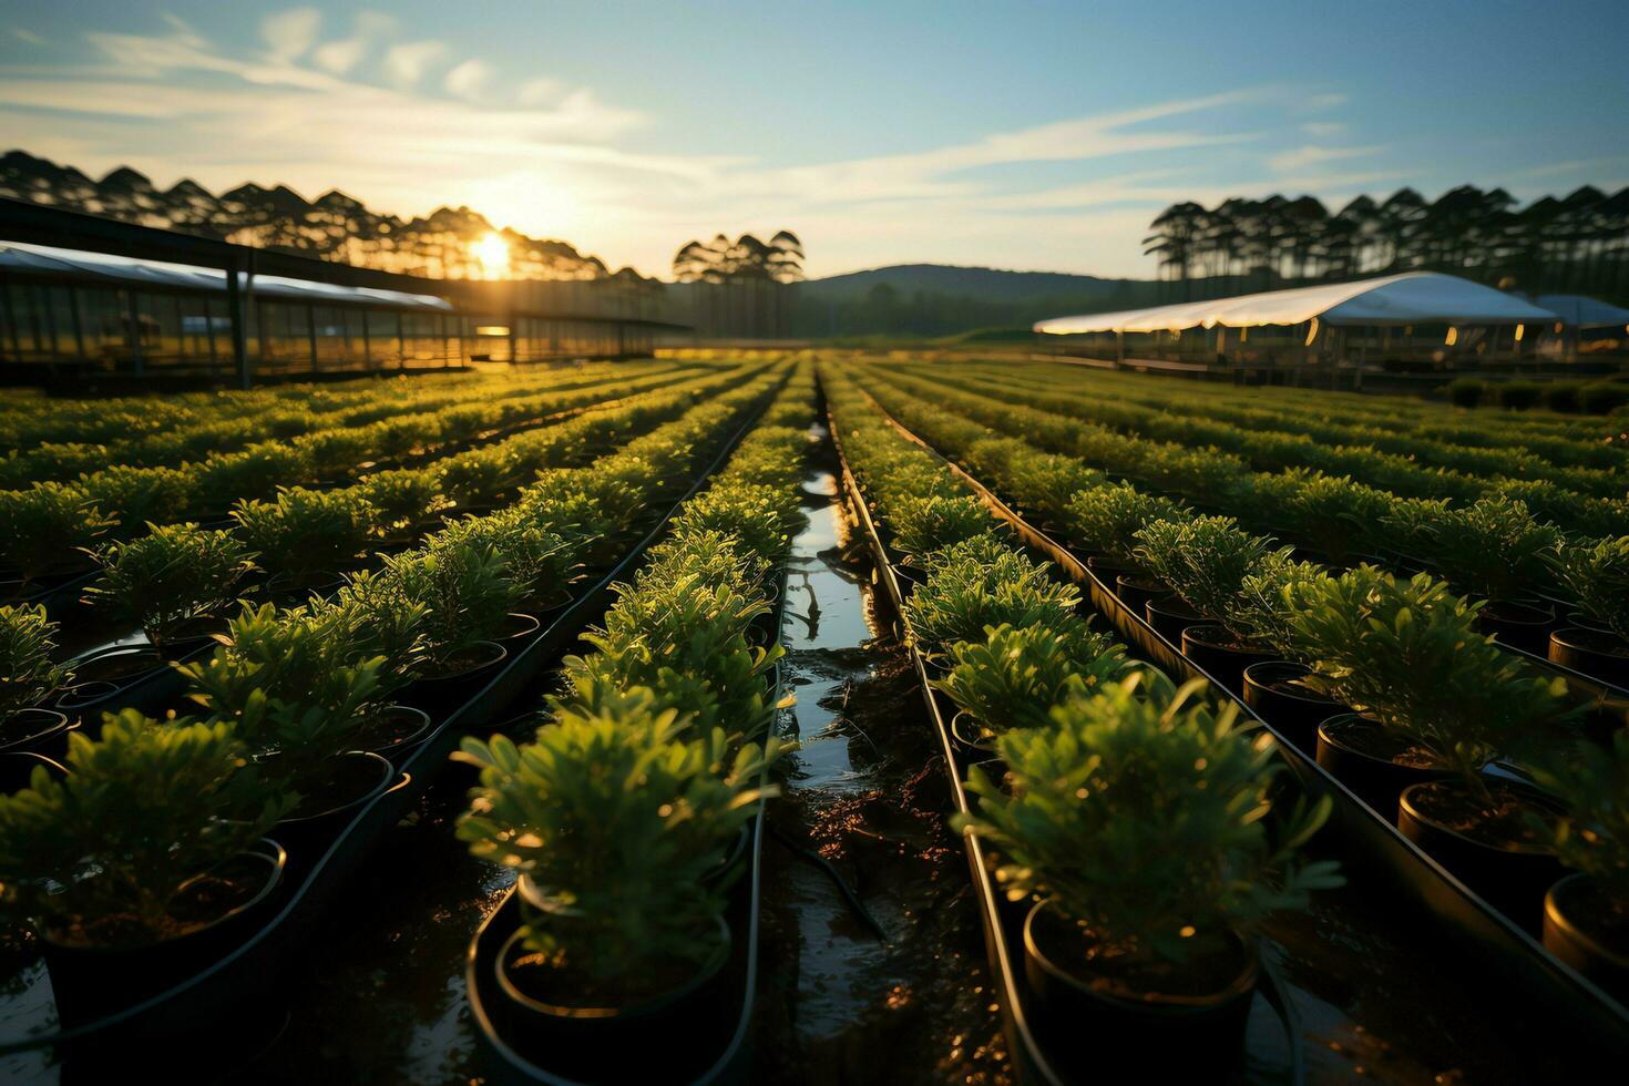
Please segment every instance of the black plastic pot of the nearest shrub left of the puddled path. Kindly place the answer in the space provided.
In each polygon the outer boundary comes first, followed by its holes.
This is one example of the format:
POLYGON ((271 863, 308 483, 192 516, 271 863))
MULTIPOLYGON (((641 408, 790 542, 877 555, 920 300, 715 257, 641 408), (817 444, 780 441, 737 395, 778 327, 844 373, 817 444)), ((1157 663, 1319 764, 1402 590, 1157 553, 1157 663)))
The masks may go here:
MULTIPOLYGON (((595 1083, 661 1081, 673 1053, 715 1032, 720 980, 730 959, 730 925, 718 920, 718 949, 683 985, 632 1006, 572 1005, 575 992, 552 993, 516 969, 525 928, 515 928, 494 961, 503 1001, 503 1039, 515 1052, 560 1078, 595 1083)), ((546 972, 546 970, 539 970, 546 972)))

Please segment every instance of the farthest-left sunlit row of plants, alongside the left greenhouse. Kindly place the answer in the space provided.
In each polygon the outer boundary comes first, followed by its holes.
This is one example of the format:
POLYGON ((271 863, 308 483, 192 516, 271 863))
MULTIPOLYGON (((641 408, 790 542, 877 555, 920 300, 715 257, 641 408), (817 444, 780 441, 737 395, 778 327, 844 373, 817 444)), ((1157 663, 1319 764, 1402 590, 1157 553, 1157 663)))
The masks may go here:
MULTIPOLYGON (((24 401, 36 409, 28 412, 29 418, 0 410, 0 431, 11 433, 15 440, 10 446, 13 454, 0 461, 0 487, 67 482, 116 464, 178 467, 259 441, 305 443, 321 433, 340 436, 310 441, 306 453, 319 471, 337 471, 347 464, 329 454, 334 444, 386 451, 404 444, 445 444, 463 433, 495 430, 533 417, 542 394, 611 379, 645 379, 674 370, 678 366, 668 363, 629 363, 616 370, 595 365, 534 373, 397 378, 308 389, 303 397, 290 397, 283 389, 251 389, 163 399, 24 401), (176 401, 191 404, 178 405, 176 401), (419 443, 411 441, 411 430, 402 428, 402 422, 415 415, 433 417, 419 443), (383 423, 394 425, 376 430, 383 423), (64 436, 50 440, 44 433, 64 436)), ((336 454, 339 451, 334 449, 336 454)))

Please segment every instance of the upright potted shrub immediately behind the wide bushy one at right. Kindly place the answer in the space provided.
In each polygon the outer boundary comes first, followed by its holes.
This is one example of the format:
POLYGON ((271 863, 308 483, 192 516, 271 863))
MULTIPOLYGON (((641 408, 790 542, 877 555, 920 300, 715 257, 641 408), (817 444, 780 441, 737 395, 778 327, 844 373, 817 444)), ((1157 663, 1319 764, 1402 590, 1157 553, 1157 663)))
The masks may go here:
POLYGON ((1274 656, 1253 640, 1249 624, 1240 620, 1245 578, 1272 554, 1269 541, 1240 531, 1232 516, 1153 521, 1135 537, 1139 562, 1209 619, 1183 628, 1183 655, 1227 689, 1240 690, 1245 668, 1274 656))

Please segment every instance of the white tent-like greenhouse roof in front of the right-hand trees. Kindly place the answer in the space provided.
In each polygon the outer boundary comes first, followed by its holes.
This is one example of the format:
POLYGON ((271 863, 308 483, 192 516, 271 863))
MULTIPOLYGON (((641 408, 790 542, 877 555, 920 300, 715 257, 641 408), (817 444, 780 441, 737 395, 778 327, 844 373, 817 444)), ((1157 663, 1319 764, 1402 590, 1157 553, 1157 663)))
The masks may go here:
POLYGON ((1091 313, 1039 321, 1036 332, 1178 332, 1191 327, 1261 324, 1523 324, 1559 319, 1525 298, 1458 275, 1404 272, 1357 283, 1297 287, 1259 295, 1184 301, 1148 309, 1091 313))

